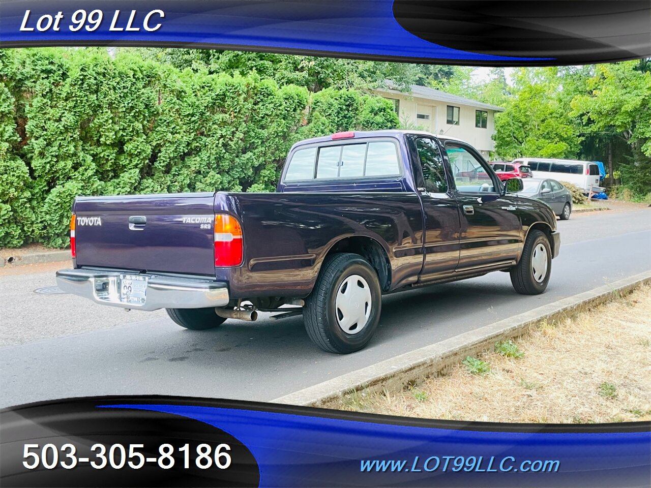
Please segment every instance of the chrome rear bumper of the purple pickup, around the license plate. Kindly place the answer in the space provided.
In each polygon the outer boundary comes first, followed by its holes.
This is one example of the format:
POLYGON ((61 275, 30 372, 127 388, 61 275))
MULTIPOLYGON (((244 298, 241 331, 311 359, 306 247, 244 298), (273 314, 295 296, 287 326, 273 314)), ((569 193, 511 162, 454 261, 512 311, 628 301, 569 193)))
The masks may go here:
POLYGON ((229 289, 225 282, 133 273, 133 271, 61 269, 57 271, 57 286, 66 293, 89 298, 95 303, 134 310, 207 308, 225 306, 229 303, 229 289), (146 278, 144 303, 120 301, 120 286, 125 275, 146 278))

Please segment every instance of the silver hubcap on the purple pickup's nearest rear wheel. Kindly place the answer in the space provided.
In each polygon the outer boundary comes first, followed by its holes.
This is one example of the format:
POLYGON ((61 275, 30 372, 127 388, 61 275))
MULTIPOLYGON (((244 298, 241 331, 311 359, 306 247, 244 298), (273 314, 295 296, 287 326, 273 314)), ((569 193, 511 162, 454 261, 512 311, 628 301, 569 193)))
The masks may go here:
POLYGON ((335 314, 337 323, 346 334, 357 334, 368 323, 371 310, 370 287, 359 275, 346 278, 337 290, 335 314))

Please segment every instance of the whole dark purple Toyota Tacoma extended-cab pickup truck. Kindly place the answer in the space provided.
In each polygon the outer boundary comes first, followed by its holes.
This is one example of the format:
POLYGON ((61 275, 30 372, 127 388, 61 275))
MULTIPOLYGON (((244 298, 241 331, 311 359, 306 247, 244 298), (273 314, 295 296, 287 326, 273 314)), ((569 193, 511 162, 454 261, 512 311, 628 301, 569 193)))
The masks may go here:
POLYGON ((521 189, 458 139, 337 133, 294 144, 276 193, 76 198, 74 269, 57 283, 96 303, 166 308, 187 329, 302 314, 318 347, 352 353, 386 293, 490 271, 542 293, 561 241, 551 208, 521 189))

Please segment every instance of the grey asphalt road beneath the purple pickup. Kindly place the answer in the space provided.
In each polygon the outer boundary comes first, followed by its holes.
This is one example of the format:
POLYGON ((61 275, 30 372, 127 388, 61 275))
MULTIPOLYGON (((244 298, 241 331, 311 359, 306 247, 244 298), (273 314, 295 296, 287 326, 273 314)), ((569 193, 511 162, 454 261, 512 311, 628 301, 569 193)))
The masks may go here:
POLYGON ((384 297, 370 346, 346 356, 312 345, 300 317, 187 331, 163 311, 129 312, 40 295, 62 264, 0 270, 0 406, 72 396, 165 394, 273 400, 375 362, 651 269, 651 209, 572 215, 543 295, 507 273, 384 297))

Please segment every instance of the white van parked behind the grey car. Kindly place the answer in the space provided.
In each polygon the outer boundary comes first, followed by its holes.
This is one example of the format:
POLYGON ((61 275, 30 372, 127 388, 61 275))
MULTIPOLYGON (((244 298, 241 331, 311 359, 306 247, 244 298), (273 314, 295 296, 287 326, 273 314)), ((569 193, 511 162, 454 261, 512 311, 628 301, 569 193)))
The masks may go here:
POLYGON ((519 157, 513 162, 531 168, 534 178, 551 178, 559 182, 572 183, 585 193, 589 193, 593 186, 599 186, 599 166, 592 161, 519 157))

